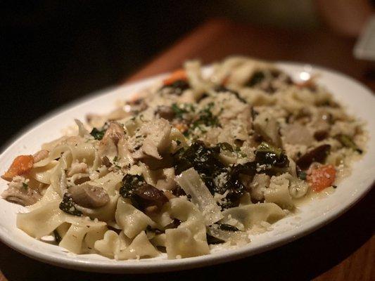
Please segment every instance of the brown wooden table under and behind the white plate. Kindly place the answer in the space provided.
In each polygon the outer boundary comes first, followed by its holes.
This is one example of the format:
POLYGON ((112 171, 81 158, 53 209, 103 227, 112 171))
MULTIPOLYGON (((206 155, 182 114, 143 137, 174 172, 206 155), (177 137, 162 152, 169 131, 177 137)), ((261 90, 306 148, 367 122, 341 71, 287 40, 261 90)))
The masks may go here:
MULTIPOLYGON (((158 55, 126 81, 174 70, 184 60, 203 63, 242 54, 322 65, 375 90, 373 65, 352 57, 352 39, 326 30, 302 32, 210 20, 158 55)), ((375 280, 374 191, 327 226, 284 247, 208 268, 155 275, 106 275, 49 266, 0 243, 4 280, 375 280)))

